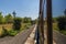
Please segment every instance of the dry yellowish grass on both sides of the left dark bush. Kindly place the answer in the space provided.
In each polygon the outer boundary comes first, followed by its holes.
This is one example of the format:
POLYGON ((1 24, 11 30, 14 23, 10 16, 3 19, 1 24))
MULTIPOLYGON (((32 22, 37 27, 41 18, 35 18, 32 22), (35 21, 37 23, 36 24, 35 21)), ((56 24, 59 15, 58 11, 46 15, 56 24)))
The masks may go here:
MULTIPOLYGON (((30 23, 22 23, 21 24, 21 30, 26 30, 26 28, 29 26, 30 23)), ((2 26, 4 26, 4 29, 7 29, 7 31, 12 30, 12 24, 0 24, 0 35, 2 34, 2 26)))

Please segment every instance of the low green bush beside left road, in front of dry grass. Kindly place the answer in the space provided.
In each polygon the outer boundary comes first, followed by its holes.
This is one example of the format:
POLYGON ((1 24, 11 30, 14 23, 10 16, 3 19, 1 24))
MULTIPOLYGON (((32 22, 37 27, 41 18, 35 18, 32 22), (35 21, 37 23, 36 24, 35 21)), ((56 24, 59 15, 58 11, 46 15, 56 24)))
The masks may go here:
POLYGON ((3 28, 0 37, 4 37, 7 35, 8 36, 15 36, 18 33, 19 33, 19 31, 16 31, 16 30, 7 31, 7 29, 3 28))

